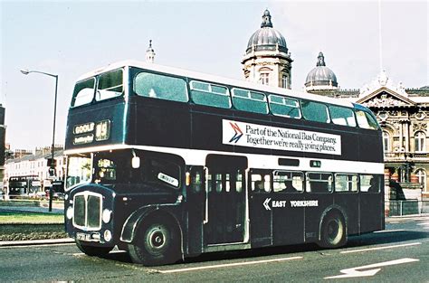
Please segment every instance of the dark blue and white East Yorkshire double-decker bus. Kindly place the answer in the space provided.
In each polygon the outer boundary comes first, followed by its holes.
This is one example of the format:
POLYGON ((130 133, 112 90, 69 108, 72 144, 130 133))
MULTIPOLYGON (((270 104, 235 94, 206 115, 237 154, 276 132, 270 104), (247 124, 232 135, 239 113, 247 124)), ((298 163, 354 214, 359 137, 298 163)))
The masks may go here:
POLYGON ((383 230, 372 112, 309 93, 123 61, 83 75, 68 114, 66 231, 160 265, 383 230))

